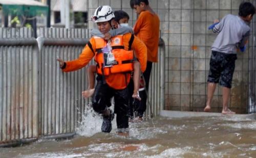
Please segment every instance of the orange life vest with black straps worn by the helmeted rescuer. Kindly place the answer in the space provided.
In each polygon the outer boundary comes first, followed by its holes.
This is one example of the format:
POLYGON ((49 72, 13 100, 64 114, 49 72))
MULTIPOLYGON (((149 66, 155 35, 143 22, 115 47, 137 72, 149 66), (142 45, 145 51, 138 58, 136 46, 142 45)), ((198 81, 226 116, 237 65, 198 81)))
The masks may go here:
MULTIPOLYGON (((100 37, 93 37, 96 43, 95 62, 97 63, 96 72, 108 76, 113 73, 125 73, 133 71, 133 50, 125 50, 122 35, 111 38, 112 54, 115 63, 111 67, 104 66, 104 55, 102 48, 106 46, 107 41, 100 37)), ((131 48, 130 48, 131 49, 131 48)))

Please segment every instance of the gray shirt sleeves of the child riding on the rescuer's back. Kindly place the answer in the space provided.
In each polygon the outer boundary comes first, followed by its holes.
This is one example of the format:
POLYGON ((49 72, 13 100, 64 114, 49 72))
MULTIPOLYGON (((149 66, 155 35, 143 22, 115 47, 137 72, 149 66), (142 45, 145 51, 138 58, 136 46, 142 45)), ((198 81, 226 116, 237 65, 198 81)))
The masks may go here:
MULTIPOLYGON (((131 28, 131 27, 122 27, 122 28, 110 30, 109 33, 111 34, 112 37, 114 37, 116 35, 124 35, 126 33, 133 33, 133 28, 131 28)), ((98 29, 93 29, 91 31, 91 35, 92 36, 98 36, 98 37, 101 37, 101 38, 104 37, 104 35, 98 29)))

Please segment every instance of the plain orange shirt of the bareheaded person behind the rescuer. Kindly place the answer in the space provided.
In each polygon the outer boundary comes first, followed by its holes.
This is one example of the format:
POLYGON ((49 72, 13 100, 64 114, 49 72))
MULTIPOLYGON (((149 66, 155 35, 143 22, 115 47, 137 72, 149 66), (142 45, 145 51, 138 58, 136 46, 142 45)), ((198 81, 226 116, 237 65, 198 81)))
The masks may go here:
POLYGON ((147 61, 157 62, 160 20, 150 11, 142 11, 134 25, 135 35, 147 47, 147 61))

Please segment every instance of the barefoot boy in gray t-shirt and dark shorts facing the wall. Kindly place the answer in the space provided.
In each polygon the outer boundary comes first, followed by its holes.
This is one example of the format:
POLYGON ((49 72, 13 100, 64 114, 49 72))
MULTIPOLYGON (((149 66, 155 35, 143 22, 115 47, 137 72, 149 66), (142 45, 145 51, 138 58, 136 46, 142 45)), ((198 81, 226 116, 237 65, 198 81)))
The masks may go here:
POLYGON ((205 112, 209 112, 211 109, 211 99, 214 95, 216 84, 219 83, 223 87, 222 114, 235 114, 235 112, 228 109, 228 100, 237 59, 237 49, 243 50, 245 48, 246 41, 250 35, 249 23, 254 13, 254 6, 249 2, 243 2, 239 6, 239 16, 228 14, 219 23, 211 27, 214 33, 218 33, 218 36, 211 46, 205 112))

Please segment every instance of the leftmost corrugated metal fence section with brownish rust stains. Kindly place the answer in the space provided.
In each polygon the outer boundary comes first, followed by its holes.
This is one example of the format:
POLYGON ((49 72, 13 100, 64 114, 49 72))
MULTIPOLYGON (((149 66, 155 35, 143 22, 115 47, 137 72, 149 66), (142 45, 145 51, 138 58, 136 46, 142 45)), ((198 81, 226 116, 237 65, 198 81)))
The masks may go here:
POLYGON ((0 144, 38 137, 38 47, 31 29, 0 29, 0 144))

